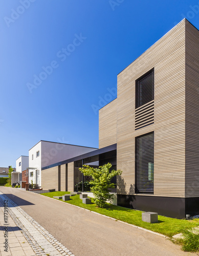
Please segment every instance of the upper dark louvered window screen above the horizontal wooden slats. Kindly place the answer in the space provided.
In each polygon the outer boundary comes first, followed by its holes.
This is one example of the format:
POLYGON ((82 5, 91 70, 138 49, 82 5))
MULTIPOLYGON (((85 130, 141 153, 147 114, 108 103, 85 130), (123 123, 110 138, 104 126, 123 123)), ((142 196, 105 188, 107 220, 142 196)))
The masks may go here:
POLYGON ((136 80, 136 108, 154 99, 154 69, 136 80))

